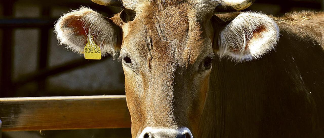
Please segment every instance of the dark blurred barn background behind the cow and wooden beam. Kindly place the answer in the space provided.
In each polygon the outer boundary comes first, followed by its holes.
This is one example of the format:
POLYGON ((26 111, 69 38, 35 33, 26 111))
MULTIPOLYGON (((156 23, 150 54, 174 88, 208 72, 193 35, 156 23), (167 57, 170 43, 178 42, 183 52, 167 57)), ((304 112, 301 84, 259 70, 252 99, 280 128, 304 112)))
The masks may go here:
MULTIPOLYGON (((109 56, 100 61, 85 60, 83 55, 58 46, 54 22, 81 5, 108 17, 121 10, 90 0, 0 1, 0 97, 124 94, 124 75, 118 61, 109 56)), ((256 0, 245 11, 280 16, 321 9, 324 0, 256 0)), ((4 138, 104 137, 130 137, 130 128, 4 133, 4 138)))

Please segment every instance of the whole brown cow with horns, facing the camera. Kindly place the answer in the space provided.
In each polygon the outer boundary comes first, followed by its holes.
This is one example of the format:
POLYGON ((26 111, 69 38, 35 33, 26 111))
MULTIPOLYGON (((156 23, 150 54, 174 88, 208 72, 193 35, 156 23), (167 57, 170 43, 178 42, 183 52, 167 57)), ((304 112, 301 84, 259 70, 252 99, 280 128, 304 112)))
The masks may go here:
POLYGON ((240 12, 254 0, 92 0, 54 26, 118 57, 133 138, 324 137, 324 13, 240 12))

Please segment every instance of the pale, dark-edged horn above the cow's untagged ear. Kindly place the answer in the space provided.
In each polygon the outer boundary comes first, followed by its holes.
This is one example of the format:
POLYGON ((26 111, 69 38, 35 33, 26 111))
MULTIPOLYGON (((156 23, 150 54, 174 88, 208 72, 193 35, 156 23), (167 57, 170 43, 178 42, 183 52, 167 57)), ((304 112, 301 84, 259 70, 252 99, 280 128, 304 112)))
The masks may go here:
POLYGON ((241 11, 248 8, 255 0, 222 0, 221 4, 216 6, 216 12, 241 11))

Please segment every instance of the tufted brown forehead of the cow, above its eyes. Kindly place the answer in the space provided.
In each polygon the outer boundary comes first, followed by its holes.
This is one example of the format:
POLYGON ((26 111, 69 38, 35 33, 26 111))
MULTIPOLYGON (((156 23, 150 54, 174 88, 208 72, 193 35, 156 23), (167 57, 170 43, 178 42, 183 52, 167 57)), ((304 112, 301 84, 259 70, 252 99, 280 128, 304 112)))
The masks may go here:
POLYGON ((194 63, 206 52, 202 25, 192 5, 150 3, 123 27, 127 30, 123 46, 144 60, 151 56, 166 63, 194 63))

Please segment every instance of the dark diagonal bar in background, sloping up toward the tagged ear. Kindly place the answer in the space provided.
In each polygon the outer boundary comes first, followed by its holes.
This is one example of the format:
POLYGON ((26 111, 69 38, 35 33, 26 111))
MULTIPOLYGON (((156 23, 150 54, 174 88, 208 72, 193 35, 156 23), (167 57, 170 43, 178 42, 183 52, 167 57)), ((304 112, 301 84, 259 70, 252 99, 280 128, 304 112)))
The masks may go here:
POLYGON ((51 69, 44 69, 44 70, 37 71, 37 74, 31 74, 31 75, 28 75, 25 77, 21 77, 21 79, 19 81, 14 82, 13 84, 16 86, 23 85, 23 84, 29 83, 31 81, 37 81, 37 80, 44 79, 51 75, 64 73, 66 71, 69 71, 69 70, 72 70, 72 69, 75 69, 78 67, 99 63, 99 62, 102 62, 103 60, 107 60, 109 58, 110 58, 110 56, 104 57, 101 60, 78 59, 75 61, 67 62, 63 65, 53 67, 51 69))

